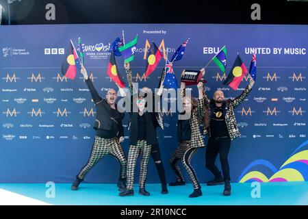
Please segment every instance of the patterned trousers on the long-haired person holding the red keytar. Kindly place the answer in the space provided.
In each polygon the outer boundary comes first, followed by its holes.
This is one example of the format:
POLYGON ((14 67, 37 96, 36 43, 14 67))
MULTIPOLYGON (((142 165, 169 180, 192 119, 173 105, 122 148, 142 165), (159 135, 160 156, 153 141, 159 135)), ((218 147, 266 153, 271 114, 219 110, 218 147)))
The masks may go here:
POLYGON ((177 162, 181 159, 181 161, 183 162, 183 166, 185 167, 185 170, 188 172, 190 181, 192 181, 194 189, 198 189, 201 188, 201 186, 198 183, 198 179, 196 178, 196 172, 194 172, 194 168, 192 168, 192 165, 190 164, 192 160, 192 155, 194 155, 197 149, 192 148, 190 145, 191 145, 190 141, 181 142, 177 147, 177 149, 175 149, 175 152, 172 153, 169 159, 169 164, 171 165, 172 170, 175 171, 177 179, 179 181, 184 181, 184 177, 181 174, 181 170, 177 165, 177 162))

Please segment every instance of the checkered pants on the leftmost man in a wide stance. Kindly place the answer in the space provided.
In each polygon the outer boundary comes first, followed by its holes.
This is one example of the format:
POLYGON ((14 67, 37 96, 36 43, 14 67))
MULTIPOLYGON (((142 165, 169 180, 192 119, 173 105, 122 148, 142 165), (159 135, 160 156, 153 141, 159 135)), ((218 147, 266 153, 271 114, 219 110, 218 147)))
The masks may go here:
POLYGON ((117 138, 100 138, 95 136, 95 141, 92 146, 92 152, 88 163, 80 170, 77 177, 84 180, 84 177, 91 170, 95 164, 97 164, 105 155, 114 156, 120 164, 120 178, 126 177, 127 159, 122 146, 118 142, 117 138))

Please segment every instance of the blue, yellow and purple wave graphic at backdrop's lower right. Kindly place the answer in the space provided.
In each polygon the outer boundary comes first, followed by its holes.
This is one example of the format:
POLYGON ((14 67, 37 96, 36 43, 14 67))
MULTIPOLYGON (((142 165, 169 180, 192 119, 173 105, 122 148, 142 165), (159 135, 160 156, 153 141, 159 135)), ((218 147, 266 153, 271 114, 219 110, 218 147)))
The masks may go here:
POLYGON ((285 182, 285 181, 308 181, 308 150, 303 150, 308 146, 308 140, 298 146, 291 157, 277 170, 270 162, 258 159, 249 164, 238 178, 239 183, 258 182, 285 182), (303 151, 300 151, 303 150, 303 151), (249 171, 255 166, 263 166, 271 170, 271 177, 267 177, 260 171, 249 171))

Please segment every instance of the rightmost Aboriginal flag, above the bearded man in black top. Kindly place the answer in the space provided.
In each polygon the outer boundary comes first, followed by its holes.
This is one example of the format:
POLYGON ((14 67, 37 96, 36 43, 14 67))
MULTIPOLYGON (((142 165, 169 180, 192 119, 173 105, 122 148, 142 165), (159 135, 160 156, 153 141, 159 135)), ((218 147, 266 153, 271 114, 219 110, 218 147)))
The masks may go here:
POLYGON ((224 80, 223 84, 233 88, 233 90, 237 90, 243 77, 247 73, 248 73, 248 70, 244 62, 242 61, 240 55, 238 55, 233 63, 233 66, 231 68, 231 71, 227 79, 224 80))

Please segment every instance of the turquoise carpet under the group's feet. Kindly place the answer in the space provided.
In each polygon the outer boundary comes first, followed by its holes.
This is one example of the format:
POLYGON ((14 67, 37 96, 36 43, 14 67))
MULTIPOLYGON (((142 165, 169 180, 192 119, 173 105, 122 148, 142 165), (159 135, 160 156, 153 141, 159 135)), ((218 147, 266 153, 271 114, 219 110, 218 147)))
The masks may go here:
POLYGON ((308 182, 261 183, 260 198, 252 198, 251 183, 232 183, 232 195, 222 196, 223 185, 202 185, 203 196, 188 198, 192 185, 168 187, 169 194, 160 194, 159 184, 147 184, 151 196, 120 197, 115 184, 83 183, 71 191, 70 184, 56 183, 55 198, 47 198, 44 184, 2 183, 0 188, 35 198, 52 205, 308 205, 308 182))

